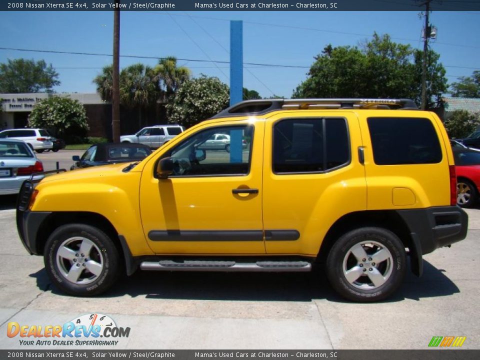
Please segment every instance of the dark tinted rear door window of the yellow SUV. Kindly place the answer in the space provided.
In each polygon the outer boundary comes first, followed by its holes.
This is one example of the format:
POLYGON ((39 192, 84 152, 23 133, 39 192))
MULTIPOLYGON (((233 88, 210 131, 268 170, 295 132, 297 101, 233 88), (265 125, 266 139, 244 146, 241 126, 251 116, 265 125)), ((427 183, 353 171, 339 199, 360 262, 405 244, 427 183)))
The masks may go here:
POLYGON ((273 171, 321 172, 350 160, 343 118, 285 119, 273 128, 273 171))

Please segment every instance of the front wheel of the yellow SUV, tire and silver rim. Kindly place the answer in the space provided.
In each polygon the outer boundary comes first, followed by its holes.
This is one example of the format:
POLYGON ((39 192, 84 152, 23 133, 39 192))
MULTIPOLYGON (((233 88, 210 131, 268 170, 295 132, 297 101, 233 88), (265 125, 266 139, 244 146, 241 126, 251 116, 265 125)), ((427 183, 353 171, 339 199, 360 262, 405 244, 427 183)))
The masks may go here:
POLYGON ((46 241, 43 259, 45 269, 53 283, 66 293, 75 296, 102 293, 120 274, 119 252, 113 241, 102 230, 87 224, 74 223, 56 228, 46 241), (82 257, 80 245, 84 242, 86 246, 90 243, 93 245, 89 253, 83 254, 82 257), (74 259, 61 256, 60 247, 62 250, 66 248, 68 255, 74 259), (79 256, 73 254, 74 252, 79 256), (98 265, 101 265, 101 269, 98 265), (75 271, 75 266, 82 270, 75 271), (98 271, 98 274, 90 272, 90 267, 98 271), (70 275, 73 272, 78 273, 76 281, 66 277, 66 274, 70 275))

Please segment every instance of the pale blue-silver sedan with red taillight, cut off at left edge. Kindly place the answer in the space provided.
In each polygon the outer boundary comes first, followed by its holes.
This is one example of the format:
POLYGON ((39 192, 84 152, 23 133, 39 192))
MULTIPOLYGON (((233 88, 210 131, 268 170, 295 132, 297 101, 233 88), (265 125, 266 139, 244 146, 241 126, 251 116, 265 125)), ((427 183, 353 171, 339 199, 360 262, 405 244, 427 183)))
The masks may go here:
POLYGON ((0 194, 18 193, 22 182, 43 165, 21 140, 0 138, 0 194))

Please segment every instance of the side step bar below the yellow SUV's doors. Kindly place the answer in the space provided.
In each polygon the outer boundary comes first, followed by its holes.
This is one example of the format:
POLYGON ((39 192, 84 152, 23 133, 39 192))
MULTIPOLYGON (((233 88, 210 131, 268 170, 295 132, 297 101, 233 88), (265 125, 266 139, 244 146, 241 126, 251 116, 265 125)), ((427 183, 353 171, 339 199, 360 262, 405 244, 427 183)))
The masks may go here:
POLYGON ((156 271, 264 271, 264 272, 307 272, 311 270, 308 261, 143 261, 140 263, 142 270, 156 271))

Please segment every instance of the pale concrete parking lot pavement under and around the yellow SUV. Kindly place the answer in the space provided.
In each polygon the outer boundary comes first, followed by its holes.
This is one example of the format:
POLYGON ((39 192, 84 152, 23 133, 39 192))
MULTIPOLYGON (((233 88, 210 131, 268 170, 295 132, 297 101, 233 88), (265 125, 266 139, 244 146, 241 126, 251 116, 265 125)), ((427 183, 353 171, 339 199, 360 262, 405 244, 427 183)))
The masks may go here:
MULTIPOLYGON (((43 153, 69 168, 81 151, 43 153), (70 160, 68 160, 68 158, 70 160)), ((408 273, 388 301, 339 298, 321 269, 311 273, 167 273, 137 271, 94 298, 64 295, 30 256, 15 226, 15 196, 0 197, 0 348, 20 345, 7 323, 55 325, 82 314, 107 314, 130 327, 115 349, 426 349, 432 336, 466 336, 480 346, 480 208, 467 210, 467 238, 424 256, 424 273, 408 273)), ((35 339, 36 340, 36 339, 35 339)), ((56 346, 66 348, 71 346, 56 346)), ((75 347, 75 346, 73 346, 75 347)), ((35 348, 41 348, 37 346, 35 348)), ((44 346, 52 348, 52 346, 44 346)), ((84 347, 83 347, 84 348, 84 347)), ((105 348, 102 346, 101 348, 105 348)))

